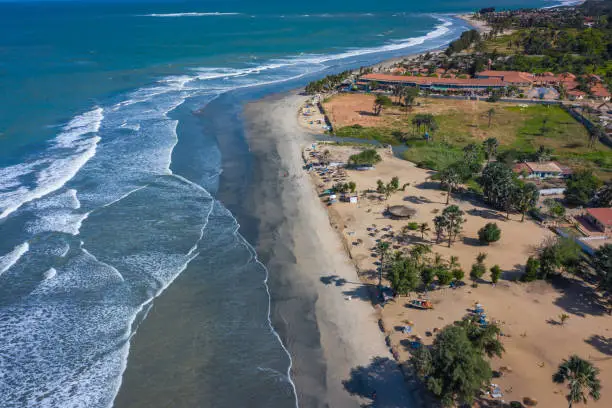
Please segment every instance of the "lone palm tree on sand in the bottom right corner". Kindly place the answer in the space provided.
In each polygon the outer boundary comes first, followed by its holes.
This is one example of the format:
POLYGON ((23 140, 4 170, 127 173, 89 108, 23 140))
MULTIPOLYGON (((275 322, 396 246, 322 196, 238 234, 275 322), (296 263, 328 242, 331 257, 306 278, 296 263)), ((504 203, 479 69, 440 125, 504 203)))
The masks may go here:
POLYGON ((574 402, 587 403, 587 395, 597 401, 600 397, 601 384, 597 375, 599 369, 589 361, 583 360, 577 355, 570 356, 569 360, 563 360, 559 369, 553 375, 553 381, 558 384, 567 382, 569 394, 566 398, 568 407, 572 408, 574 402))

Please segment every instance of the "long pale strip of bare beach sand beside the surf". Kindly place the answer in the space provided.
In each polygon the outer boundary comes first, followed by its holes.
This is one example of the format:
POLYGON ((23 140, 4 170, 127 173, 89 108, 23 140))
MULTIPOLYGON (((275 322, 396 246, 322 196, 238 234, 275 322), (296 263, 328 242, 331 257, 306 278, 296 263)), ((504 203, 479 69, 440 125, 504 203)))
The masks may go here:
POLYGON ((302 147, 312 140, 297 121, 305 101, 295 93, 270 97, 247 105, 244 119, 256 158, 258 188, 249 200, 260 220, 257 251, 269 269, 272 322, 291 353, 300 406, 359 406, 373 391, 377 407, 415 406, 374 308, 359 299, 369 291, 302 168, 302 147))

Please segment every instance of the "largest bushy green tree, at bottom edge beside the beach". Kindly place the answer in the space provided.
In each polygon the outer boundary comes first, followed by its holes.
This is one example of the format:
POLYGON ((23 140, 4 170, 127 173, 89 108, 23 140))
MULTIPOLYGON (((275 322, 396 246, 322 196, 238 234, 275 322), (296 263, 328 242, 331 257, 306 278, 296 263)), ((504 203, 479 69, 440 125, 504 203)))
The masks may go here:
POLYGON ((491 367, 463 327, 450 325, 430 349, 411 358, 419 378, 442 404, 471 403, 492 377, 491 367))

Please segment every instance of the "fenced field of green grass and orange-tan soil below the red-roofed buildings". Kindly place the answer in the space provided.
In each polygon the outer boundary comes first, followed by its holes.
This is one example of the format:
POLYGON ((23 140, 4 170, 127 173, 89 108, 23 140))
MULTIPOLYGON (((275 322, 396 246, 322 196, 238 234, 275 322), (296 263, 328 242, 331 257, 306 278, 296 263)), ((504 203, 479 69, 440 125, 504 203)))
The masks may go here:
POLYGON ((343 123, 352 125, 334 124, 337 136, 406 143, 411 149, 405 158, 424 167, 444 168, 460 157, 463 146, 494 137, 500 143, 500 152, 530 153, 545 146, 562 163, 573 168, 589 168, 604 180, 612 179, 612 149, 599 142, 590 148, 588 131, 559 106, 420 98, 418 106, 408 114, 393 107, 373 119, 364 114, 371 106, 370 96, 351 95, 351 98, 351 111, 341 113, 343 123), (363 109, 358 105, 360 97, 369 98, 364 101, 363 109), (489 125, 490 109, 494 112, 489 125), (411 123, 415 115, 422 113, 433 114, 438 123, 433 142, 426 143, 423 130, 417 131, 411 123))

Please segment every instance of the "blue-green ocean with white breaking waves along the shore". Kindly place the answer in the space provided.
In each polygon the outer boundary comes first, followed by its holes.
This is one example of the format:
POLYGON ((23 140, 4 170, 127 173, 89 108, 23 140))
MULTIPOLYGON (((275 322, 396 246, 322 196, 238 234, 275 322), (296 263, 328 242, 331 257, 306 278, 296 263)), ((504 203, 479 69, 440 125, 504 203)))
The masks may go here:
POLYGON ((453 13, 489 5, 0 2, 0 406, 145 406, 161 385, 122 382, 139 341, 172 350, 139 372, 197 390, 173 406, 299 405, 241 215, 256 188, 241 107, 443 47, 469 28, 453 13), (176 332, 139 331, 171 285, 176 332))

